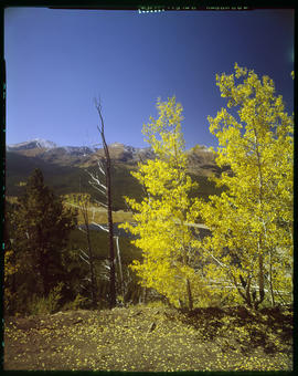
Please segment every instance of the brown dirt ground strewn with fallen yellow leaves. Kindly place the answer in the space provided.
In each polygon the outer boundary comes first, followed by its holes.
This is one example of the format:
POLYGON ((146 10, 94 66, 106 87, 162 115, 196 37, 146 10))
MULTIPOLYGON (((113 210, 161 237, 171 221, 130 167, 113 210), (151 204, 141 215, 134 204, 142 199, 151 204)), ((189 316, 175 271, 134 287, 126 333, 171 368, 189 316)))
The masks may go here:
POLYGON ((291 370, 292 311, 137 305, 6 317, 4 369, 291 370))

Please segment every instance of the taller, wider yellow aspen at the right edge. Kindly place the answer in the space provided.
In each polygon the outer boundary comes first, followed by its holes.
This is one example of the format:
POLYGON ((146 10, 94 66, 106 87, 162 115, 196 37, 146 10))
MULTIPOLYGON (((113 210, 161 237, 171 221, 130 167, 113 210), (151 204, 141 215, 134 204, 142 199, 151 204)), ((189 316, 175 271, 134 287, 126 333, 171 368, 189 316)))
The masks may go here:
POLYGON ((204 250, 209 280, 234 285, 248 306, 268 297, 291 302, 294 119, 268 76, 235 64, 216 75, 227 98, 210 130, 219 139, 216 163, 231 169, 215 179, 225 191, 198 209, 212 236, 195 242, 204 250), (233 108, 233 112, 228 108, 233 108))

